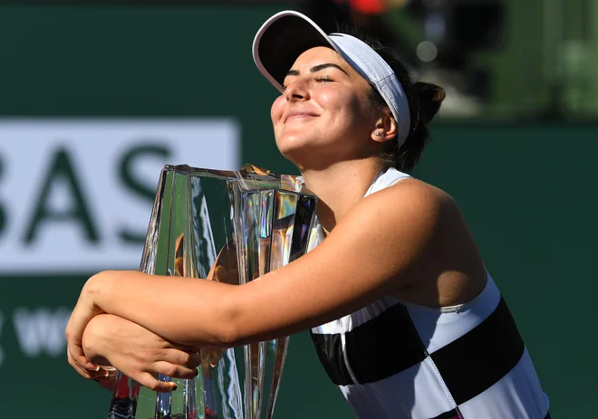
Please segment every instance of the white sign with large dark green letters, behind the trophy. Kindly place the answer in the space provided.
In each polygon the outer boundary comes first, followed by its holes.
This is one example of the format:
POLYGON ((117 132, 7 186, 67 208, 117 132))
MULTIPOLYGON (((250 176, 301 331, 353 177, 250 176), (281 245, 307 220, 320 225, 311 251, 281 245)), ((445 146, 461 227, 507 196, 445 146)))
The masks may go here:
POLYGON ((0 275, 136 269, 160 169, 239 157, 235 119, 0 119, 0 275))

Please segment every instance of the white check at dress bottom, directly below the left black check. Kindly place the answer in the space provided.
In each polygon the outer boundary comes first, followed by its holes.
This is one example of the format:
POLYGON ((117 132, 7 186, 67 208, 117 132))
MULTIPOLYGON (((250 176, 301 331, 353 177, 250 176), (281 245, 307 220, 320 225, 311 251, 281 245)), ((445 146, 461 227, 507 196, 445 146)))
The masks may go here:
POLYGON ((362 418, 429 419, 454 408, 433 363, 417 364, 375 383, 340 388, 362 418))

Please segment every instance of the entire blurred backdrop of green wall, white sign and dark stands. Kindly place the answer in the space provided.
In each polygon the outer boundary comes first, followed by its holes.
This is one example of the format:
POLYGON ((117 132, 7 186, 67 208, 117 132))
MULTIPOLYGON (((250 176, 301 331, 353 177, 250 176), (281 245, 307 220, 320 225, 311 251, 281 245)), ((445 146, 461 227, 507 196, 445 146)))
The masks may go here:
MULTIPOLYGON (((251 55, 265 19, 292 8, 329 32, 361 26, 448 90, 415 176, 468 218, 553 417, 596 417, 598 2, 86 3, 0 2, 3 416, 107 414, 63 330, 92 273, 139 266, 164 164, 296 173, 251 55)), ((352 417, 306 333, 276 416, 352 417)))

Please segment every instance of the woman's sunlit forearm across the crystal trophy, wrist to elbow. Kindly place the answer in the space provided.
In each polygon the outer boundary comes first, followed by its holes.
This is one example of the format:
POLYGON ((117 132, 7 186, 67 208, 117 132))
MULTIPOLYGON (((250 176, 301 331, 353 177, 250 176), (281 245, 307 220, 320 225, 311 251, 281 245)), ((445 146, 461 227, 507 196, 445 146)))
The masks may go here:
POLYGON ((193 347, 228 346, 235 286, 140 271, 104 271, 85 286, 92 304, 166 340, 193 347))

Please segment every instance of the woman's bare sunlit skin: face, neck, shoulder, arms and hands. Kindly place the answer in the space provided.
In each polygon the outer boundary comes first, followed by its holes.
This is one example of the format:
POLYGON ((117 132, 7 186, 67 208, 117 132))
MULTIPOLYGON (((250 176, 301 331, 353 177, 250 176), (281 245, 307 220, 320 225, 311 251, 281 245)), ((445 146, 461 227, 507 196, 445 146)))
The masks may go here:
POLYGON ((386 295, 430 307, 474 298, 486 270, 449 195, 406 179, 363 198, 382 168, 381 151, 397 134, 390 110, 372 107, 369 90, 336 52, 317 47, 297 58, 272 106, 277 147, 320 198, 318 216, 332 232, 323 243, 241 286, 98 273, 83 287, 66 329, 72 366, 97 378, 105 374, 96 366, 110 364, 169 391, 171 384, 155 376, 165 370, 188 376, 199 365, 190 355, 198 348, 290 335, 386 295), (385 135, 374 135, 376 129, 385 135))

